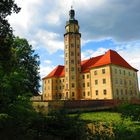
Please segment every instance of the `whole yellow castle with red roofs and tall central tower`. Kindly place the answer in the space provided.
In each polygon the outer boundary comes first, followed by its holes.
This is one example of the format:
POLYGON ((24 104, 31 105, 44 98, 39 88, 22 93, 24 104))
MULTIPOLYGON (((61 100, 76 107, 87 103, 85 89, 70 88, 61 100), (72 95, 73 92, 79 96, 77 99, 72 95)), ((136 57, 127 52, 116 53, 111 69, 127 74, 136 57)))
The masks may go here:
POLYGON ((81 61, 81 34, 75 11, 69 12, 64 34, 64 65, 43 82, 43 100, 138 99, 137 69, 116 51, 81 61))

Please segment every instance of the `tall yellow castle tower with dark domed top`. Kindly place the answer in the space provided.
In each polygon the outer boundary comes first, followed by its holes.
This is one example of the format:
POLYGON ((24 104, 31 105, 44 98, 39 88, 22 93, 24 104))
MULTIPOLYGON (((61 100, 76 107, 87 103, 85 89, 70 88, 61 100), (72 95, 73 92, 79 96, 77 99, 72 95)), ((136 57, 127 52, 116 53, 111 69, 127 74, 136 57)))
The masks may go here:
POLYGON ((65 99, 79 99, 81 72, 81 34, 75 11, 69 11, 69 20, 66 22, 64 34, 64 61, 65 61, 65 99))

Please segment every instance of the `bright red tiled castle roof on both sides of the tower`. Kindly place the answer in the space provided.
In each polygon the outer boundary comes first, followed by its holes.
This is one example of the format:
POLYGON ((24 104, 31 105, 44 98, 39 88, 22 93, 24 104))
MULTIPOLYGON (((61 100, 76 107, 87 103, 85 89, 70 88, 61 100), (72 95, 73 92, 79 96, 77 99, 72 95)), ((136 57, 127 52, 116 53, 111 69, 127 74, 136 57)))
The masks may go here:
MULTIPOLYGON (((81 62, 81 72, 89 72, 91 68, 100 67, 108 64, 119 65, 134 71, 138 71, 129 65, 116 51, 109 50, 104 55, 97 57, 92 57, 90 59, 84 60, 81 62)), ((64 66, 58 65, 52 72, 50 72, 45 78, 51 77, 63 77, 65 75, 64 66)))

